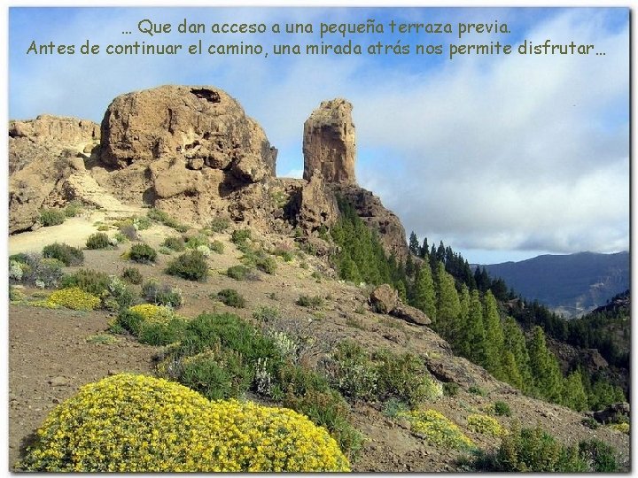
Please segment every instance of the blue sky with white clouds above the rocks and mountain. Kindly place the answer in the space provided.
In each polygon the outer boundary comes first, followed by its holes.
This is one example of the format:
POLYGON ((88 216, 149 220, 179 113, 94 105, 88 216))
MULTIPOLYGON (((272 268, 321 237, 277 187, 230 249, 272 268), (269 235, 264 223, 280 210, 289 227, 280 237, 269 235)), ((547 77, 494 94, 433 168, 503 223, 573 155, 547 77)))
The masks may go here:
MULTIPOLYGON (((187 47, 185 47, 187 48, 187 47)), ((184 49, 185 49, 184 48, 184 49)), ((224 89, 279 150, 277 174, 303 171, 303 122, 325 99, 354 105, 355 172, 407 234, 443 241, 471 263, 629 248, 629 10, 626 8, 12 8, 9 117, 50 113, 99 122, 115 96, 163 84, 224 89), (171 24, 149 35, 143 25, 171 24), (203 23, 312 24, 312 35, 179 34, 203 23), (319 36, 322 22, 374 19, 384 34, 319 36), (392 34, 388 23, 449 23, 452 34, 392 34), (510 33, 462 35, 458 25, 510 33), (122 32, 130 31, 130 34, 122 32), (130 42, 261 44, 259 56, 27 54, 37 44, 102 49, 130 42), (518 54, 594 44, 589 55, 518 54), (443 46, 441 55, 276 56, 273 44, 443 46), (512 45, 457 55, 449 43, 512 45), (399 42, 399 43, 397 43, 399 42), (595 55, 604 53, 604 55, 595 55)))

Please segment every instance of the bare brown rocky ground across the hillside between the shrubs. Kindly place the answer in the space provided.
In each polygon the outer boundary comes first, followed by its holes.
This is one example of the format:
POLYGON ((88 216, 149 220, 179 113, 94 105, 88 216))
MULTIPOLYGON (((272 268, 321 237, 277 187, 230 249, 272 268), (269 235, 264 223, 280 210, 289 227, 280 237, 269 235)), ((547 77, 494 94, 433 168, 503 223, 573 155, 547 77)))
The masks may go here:
MULTIPOLYGON (((96 217, 87 213, 61 226, 13 235, 9 240, 10 253, 40 251, 53 238, 64 238, 66 243, 80 245, 89 231, 95 230, 96 217), (47 232, 51 234, 45 234, 47 232)), ((174 230, 164 226, 155 226, 140 234, 146 243, 156 248, 166 235, 176 235, 174 230)), ((267 244, 292 243, 290 237, 258 236, 267 244)), ((502 425, 509 426, 512 420, 519 420, 524 426, 540 423, 565 443, 598 437, 617 448, 619 461, 628 470, 628 436, 606 427, 591 430, 581 424, 583 415, 580 413, 520 395, 510 386, 495 381, 482 368, 455 357, 447 343, 430 328, 371 312, 367 305, 369 290, 331 279, 331 270, 322 259, 304 255, 286 263, 278 258, 276 274, 260 274, 255 281, 235 281, 220 273, 237 265, 241 253, 230 243, 229 234, 222 233, 214 238, 224 243, 225 250, 222 255, 214 254, 209 258, 213 274, 206 283, 183 281, 163 274, 170 256, 160 254, 155 266, 134 265, 121 258, 121 253, 128 251, 127 244, 117 251, 85 251, 84 267, 120 274, 127 266, 137 266, 144 279, 156 277, 178 285, 185 298, 180 313, 185 316, 194 317, 205 311, 229 311, 250 320, 256 307, 270 305, 279 308, 282 317, 294 319, 295 327, 307 328, 323 351, 330 351, 339 340, 352 338, 369 349, 387 347, 393 351, 418 353, 432 374, 460 385, 456 397, 442 397, 427 406, 455 421, 481 448, 494 448, 499 439, 469 431, 467 416, 502 400, 512 410, 511 417, 499 417, 502 425), (306 266, 301 266, 302 263, 306 266), (313 273, 316 274, 313 276, 313 273), (322 277, 320 280, 316 278, 318 274, 322 277), (237 289, 244 295, 245 309, 233 309, 208 297, 210 293, 226 288, 237 289), (312 311, 296 305, 301 294, 323 297, 323 307, 312 311), (484 394, 470 393, 471 386, 483 390, 484 394)), ((43 291, 23 289, 23 292, 33 296, 43 291)), ((159 348, 141 345, 124 336, 118 336, 113 344, 94 342, 93 336, 104 333, 111 319, 109 312, 104 311, 73 312, 10 305, 10 466, 19 459, 21 447, 28 443, 47 413, 83 384, 122 371, 153 373, 152 357, 159 348)), ((355 471, 460 471, 455 462, 461 457, 459 451, 424 442, 410 432, 407 423, 386 417, 382 405, 355 404, 353 417, 354 426, 367 438, 361 457, 354 463, 355 471)))

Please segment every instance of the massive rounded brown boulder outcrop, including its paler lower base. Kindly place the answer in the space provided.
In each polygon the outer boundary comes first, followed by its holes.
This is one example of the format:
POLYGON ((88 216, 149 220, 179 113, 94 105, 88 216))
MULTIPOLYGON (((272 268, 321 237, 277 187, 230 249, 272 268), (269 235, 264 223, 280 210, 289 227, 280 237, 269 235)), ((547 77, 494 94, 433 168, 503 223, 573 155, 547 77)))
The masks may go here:
POLYGON ((226 210, 237 191, 273 178, 276 149, 221 89, 169 85, 113 100, 99 158, 94 176, 121 200, 196 223, 226 210))

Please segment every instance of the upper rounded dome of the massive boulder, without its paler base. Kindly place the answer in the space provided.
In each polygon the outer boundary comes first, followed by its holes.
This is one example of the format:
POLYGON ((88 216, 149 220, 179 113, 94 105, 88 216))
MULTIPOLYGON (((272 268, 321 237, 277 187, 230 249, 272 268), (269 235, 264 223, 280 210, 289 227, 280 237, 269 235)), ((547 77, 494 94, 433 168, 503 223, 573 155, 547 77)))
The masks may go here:
POLYGON ((118 96, 101 128, 105 166, 176 160, 183 170, 220 169, 242 183, 275 174, 276 150, 261 127, 214 87, 168 85, 118 96))

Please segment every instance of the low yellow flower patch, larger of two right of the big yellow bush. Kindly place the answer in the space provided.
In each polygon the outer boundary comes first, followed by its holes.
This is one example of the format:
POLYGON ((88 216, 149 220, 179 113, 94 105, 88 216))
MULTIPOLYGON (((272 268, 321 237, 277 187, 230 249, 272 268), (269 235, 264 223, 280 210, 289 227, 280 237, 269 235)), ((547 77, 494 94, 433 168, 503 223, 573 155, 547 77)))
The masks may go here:
POLYGON ((401 412, 397 417, 409 420, 412 431, 428 442, 457 449, 474 448, 470 438, 458 426, 435 410, 401 412))

